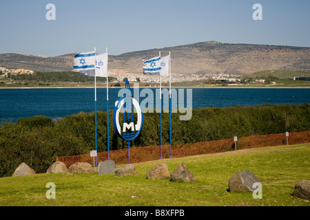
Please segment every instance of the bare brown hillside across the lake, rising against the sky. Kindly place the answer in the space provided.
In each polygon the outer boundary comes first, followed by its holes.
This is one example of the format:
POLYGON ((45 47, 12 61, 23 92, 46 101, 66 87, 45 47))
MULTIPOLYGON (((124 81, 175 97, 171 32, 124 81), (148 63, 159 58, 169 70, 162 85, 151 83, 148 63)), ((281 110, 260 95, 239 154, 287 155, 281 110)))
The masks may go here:
MULTIPOLYGON (((310 48, 279 45, 230 44, 208 41, 143 50, 109 56, 114 74, 141 74, 143 60, 172 53, 172 74, 251 74, 263 70, 289 69, 310 72, 310 48)), ((0 67, 24 68, 40 72, 72 70, 74 54, 43 57, 29 54, 0 54, 0 67)))

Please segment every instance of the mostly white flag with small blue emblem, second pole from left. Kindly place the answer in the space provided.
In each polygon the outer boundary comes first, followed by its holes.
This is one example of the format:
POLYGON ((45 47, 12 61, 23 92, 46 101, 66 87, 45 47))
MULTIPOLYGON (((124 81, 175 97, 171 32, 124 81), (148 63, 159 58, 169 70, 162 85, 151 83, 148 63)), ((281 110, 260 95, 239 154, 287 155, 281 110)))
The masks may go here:
MULTIPOLYGON (((94 76, 95 70, 81 70, 80 74, 94 76)), ((107 77, 107 53, 96 55, 96 76, 107 77)))

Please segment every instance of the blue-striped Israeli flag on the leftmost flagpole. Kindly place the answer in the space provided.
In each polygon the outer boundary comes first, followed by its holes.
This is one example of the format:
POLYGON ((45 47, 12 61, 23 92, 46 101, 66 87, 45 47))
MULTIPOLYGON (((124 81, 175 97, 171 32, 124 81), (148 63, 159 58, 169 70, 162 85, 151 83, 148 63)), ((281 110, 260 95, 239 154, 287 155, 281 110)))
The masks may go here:
POLYGON ((94 56, 95 52, 83 52, 74 55, 73 69, 77 70, 88 70, 94 69, 94 56))

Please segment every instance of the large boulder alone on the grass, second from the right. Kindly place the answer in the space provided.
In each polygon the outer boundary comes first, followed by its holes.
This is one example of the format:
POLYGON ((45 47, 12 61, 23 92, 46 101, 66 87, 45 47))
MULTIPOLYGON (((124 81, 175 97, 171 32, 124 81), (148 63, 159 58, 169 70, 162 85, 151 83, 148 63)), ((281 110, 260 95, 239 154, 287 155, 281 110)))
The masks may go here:
POLYGON ((253 188, 253 184, 256 182, 259 182, 257 177, 250 170, 245 170, 234 174, 229 179, 229 190, 231 192, 253 192, 256 190, 253 188))

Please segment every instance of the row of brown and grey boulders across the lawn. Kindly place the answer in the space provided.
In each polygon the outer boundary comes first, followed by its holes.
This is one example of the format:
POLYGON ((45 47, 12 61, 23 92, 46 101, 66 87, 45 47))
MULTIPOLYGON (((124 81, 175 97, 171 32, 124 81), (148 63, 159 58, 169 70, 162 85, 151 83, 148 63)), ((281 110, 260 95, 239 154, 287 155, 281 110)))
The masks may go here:
MULTIPOLYGON (((46 173, 95 173, 94 168, 91 164, 77 162, 72 164, 70 168, 63 162, 54 162, 46 171, 46 173)), ((112 160, 107 160, 100 162, 97 168, 97 173, 99 175, 105 174, 115 174, 118 177, 132 175, 138 176, 138 172, 134 168, 134 164, 126 164, 116 168, 116 164, 112 160)), ((36 174, 32 168, 27 164, 21 163, 17 169, 14 171, 13 177, 21 177, 24 175, 34 175, 36 174)), ((171 178, 172 181, 187 181, 194 182, 196 178, 189 171, 185 163, 183 162, 177 166, 174 171, 169 174, 168 166, 165 163, 160 163, 154 166, 152 169, 147 171, 147 179, 167 179, 171 178)), ((236 173, 229 179, 229 190, 231 192, 247 192, 254 191, 254 183, 259 182, 258 178, 251 173, 250 170, 245 170, 240 173, 236 173)), ((299 181, 293 192, 293 195, 300 197, 302 199, 310 200, 310 181, 302 180, 299 181)))

